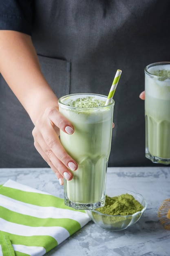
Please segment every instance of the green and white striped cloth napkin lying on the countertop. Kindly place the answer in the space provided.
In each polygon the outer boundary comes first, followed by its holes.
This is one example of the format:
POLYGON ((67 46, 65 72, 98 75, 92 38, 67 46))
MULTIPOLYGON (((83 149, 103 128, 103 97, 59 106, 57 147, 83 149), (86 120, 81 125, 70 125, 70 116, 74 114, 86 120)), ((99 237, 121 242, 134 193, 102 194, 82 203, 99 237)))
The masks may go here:
POLYGON ((62 198, 13 180, 0 186, 0 256, 42 256, 88 221, 62 198))

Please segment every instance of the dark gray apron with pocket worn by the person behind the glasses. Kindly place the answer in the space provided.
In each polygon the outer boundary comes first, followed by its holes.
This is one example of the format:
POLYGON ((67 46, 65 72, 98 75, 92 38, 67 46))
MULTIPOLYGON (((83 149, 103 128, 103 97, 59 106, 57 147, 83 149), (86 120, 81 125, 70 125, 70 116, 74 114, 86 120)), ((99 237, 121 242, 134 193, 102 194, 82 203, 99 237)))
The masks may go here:
MULTIPOLYGON (((114 100, 109 166, 156 166, 145 158, 144 67, 170 61, 168 0, 35 0, 32 40, 42 72, 57 95, 107 95, 122 70, 114 100)), ((0 167, 46 167, 33 146, 33 124, 0 77, 0 167)))

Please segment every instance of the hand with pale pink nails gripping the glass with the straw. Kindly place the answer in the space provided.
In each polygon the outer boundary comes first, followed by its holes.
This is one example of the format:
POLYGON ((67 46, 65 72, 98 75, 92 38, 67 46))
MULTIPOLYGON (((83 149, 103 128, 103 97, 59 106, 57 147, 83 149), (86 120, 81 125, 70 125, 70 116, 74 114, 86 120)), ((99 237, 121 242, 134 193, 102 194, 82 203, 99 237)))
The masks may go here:
POLYGON ((61 145, 59 129, 69 135, 74 132, 73 125, 63 117, 57 106, 50 106, 35 122, 32 134, 35 148, 49 164, 62 185, 63 177, 66 180, 72 179, 73 174, 71 171, 77 170, 77 163, 66 153, 66 150, 61 145))

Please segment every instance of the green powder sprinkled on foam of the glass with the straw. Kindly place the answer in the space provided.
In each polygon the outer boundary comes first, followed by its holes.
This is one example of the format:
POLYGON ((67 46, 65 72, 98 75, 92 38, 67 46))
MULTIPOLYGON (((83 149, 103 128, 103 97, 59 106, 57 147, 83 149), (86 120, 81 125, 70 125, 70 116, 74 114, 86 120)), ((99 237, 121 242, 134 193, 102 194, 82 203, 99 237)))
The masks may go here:
POLYGON ((79 108, 98 108, 98 107, 103 107, 105 103, 106 103, 105 101, 95 99, 95 97, 89 96, 89 97, 71 100, 67 103, 67 105, 71 107, 79 107, 79 108))

